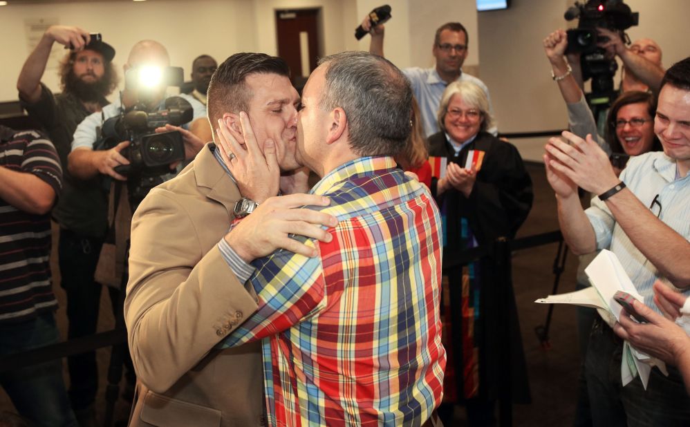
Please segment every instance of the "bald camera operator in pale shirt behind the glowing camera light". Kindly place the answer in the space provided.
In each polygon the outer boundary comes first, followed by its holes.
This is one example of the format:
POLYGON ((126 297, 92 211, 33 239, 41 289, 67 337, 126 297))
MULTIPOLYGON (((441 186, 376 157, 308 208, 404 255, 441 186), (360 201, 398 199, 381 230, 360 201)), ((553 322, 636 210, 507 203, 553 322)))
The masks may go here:
MULTIPOLYGON (((160 68, 170 66, 170 57, 165 46, 153 40, 142 40, 135 44, 129 53, 127 64, 124 64, 124 71, 127 73, 127 70, 131 68, 142 66, 156 66, 160 68)), ((152 89, 151 93, 147 94, 149 95, 147 105, 149 108, 157 108, 160 105, 165 99, 165 89, 165 86, 160 86, 152 89)), ((70 173, 83 180, 93 178, 98 173, 109 175, 116 180, 127 180, 126 177, 115 171, 115 167, 129 164, 129 160, 120 153, 122 149, 129 145, 129 141, 122 141, 109 150, 94 150, 94 144, 99 138, 97 129, 102 123, 111 117, 119 115, 123 109, 133 106, 138 101, 141 91, 142 89, 133 91, 125 88, 122 91, 122 102, 113 102, 113 104, 103 108, 102 114, 92 114, 77 126, 72 142, 72 152, 68 156, 68 170, 70 173)), ((196 123, 203 124, 206 121, 205 106, 194 99, 194 97, 184 93, 178 96, 186 99, 194 107, 194 118, 190 126, 194 126, 196 123)), ((194 155, 201 150, 203 144, 199 144, 199 142, 201 141, 195 138, 185 138, 185 151, 187 151, 189 159, 194 158, 194 155)))

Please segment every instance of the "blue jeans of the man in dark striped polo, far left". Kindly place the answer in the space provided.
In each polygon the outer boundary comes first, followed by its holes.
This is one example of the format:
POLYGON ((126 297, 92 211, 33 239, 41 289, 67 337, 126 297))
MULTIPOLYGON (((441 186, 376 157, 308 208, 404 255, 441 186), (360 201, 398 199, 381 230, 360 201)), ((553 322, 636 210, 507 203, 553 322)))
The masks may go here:
MULTIPOLYGON (((0 356, 15 354, 59 339, 53 313, 0 325, 0 356)), ((0 384, 22 417, 37 426, 77 426, 62 379, 62 359, 0 374, 0 384)))

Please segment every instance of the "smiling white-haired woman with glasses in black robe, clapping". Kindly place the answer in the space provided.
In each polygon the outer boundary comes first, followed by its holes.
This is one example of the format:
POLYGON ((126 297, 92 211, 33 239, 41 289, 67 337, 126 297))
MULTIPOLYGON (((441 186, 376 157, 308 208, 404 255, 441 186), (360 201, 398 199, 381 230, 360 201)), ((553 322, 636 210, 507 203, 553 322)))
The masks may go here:
POLYGON ((441 131, 429 137, 429 155, 447 162, 431 181, 442 216, 447 263, 442 292, 447 405, 439 415, 446 425, 453 425, 451 404, 462 403, 470 425, 492 425, 498 381, 505 381, 498 378, 501 352, 508 345, 512 396, 516 403, 530 400, 512 287, 496 282, 497 272, 486 258, 448 266, 465 249, 515 236, 532 207, 532 180, 515 146, 487 133, 493 117, 482 88, 472 82, 449 84, 437 116, 441 131), (507 313, 497 305, 499 292, 508 292, 507 313), (498 324, 502 316, 510 321, 498 324), (509 328, 510 343, 498 341, 498 331, 504 328, 509 328))

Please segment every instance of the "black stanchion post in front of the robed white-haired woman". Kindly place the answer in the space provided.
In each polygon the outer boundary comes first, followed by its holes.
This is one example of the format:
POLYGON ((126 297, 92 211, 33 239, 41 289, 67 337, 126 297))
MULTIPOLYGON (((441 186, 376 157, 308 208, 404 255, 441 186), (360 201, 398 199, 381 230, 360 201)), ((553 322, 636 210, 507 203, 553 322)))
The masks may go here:
POLYGON ((498 421, 502 427, 512 426, 512 380, 510 372, 510 245, 505 237, 494 243, 496 282, 498 283, 498 325, 500 341, 505 346, 499 358, 500 386, 498 388, 498 421))

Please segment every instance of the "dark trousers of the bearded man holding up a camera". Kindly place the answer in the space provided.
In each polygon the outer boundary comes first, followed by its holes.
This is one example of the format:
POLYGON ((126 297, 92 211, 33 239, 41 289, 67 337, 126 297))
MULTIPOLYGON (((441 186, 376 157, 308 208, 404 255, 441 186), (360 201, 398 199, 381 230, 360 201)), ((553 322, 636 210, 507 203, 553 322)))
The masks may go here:
MULTIPOLYGON (((79 236, 60 229, 58 257, 61 282, 67 294, 68 339, 95 334, 100 307, 101 285, 95 273, 104 238, 79 236)), ((93 404, 98 388, 95 351, 68 357, 69 397, 72 407, 81 410, 93 404)))

